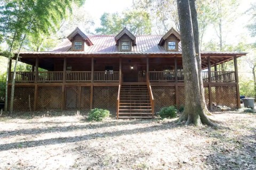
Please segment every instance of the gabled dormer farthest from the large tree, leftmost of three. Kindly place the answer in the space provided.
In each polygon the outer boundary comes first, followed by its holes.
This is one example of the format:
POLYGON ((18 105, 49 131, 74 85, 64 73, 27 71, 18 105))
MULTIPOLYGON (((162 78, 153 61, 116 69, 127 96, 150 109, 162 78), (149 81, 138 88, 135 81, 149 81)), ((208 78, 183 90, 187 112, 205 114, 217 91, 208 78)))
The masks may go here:
POLYGON ((84 51, 85 46, 92 46, 92 41, 77 27, 67 37, 71 41, 71 51, 84 51))

